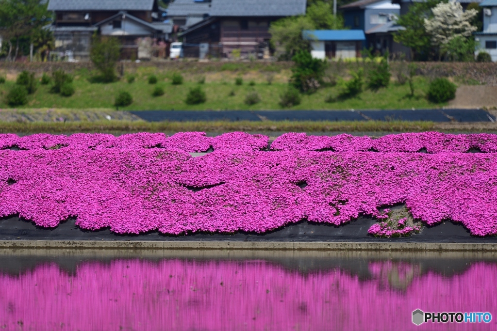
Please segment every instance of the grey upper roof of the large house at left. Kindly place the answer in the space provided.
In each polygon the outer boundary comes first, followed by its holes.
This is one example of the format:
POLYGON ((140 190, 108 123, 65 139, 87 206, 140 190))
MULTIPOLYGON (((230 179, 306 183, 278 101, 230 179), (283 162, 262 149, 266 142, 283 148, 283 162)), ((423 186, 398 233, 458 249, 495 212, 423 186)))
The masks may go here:
POLYGON ((155 0, 49 0, 48 10, 152 10, 155 0))

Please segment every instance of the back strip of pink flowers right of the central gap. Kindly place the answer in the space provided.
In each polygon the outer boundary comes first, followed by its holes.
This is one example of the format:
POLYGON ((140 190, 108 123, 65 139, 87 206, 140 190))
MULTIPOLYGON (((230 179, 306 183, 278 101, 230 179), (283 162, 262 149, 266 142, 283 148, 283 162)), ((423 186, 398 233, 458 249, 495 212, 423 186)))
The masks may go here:
POLYGON ((286 133, 272 144, 272 150, 333 150, 417 152, 426 149, 428 153, 465 153, 471 149, 482 152, 497 152, 497 134, 445 134, 440 132, 388 134, 379 138, 339 134, 335 136, 308 136, 306 133, 286 133))

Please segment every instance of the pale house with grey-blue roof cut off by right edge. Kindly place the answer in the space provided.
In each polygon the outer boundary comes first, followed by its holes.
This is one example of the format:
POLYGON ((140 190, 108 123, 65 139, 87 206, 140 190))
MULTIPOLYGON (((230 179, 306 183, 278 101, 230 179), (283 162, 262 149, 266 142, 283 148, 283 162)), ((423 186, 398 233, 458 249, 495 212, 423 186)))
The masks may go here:
POLYGON ((483 9, 483 31, 475 32, 479 46, 475 51, 478 54, 485 51, 490 54, 492 61, 497 61, 497 0, 480 2, 483 9))

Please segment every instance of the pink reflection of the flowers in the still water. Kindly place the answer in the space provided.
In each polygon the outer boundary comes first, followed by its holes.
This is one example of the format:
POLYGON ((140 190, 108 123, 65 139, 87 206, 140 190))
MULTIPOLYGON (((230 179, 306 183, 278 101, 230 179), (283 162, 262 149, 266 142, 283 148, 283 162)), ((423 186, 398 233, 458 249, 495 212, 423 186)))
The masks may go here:
POLYGON ((452 277, 405 263, 301 273, 261 261, 40 265, 0 275, 5 330, 496 330, 497 265, 452 277), (489 311, 491 324, 411 323, 423 311, 489 311))

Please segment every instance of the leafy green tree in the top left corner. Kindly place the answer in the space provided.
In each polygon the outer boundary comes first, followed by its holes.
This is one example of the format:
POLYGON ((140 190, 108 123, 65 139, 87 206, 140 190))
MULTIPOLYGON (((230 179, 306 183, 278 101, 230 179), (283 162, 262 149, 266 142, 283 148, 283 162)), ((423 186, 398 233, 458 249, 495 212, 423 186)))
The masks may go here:
POLYGON ((50 21, 47 3, 40 0, 0 0, 1 35, 9 45, 7 59, 11 60, 12 40, 16 43, 15 59, 19 53, 19 39, 28 36, 32 40, 34 33, 50 21))

